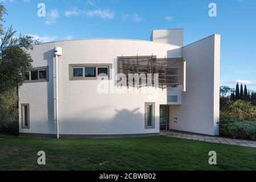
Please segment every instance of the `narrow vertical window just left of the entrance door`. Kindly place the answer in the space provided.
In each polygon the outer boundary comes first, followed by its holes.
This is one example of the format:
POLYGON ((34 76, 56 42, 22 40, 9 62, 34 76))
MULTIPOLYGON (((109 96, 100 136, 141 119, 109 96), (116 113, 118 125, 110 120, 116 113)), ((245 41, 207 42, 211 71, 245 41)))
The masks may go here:
POLYGON ((145 103, 145 129, 155 129, 155 103, 145 103))

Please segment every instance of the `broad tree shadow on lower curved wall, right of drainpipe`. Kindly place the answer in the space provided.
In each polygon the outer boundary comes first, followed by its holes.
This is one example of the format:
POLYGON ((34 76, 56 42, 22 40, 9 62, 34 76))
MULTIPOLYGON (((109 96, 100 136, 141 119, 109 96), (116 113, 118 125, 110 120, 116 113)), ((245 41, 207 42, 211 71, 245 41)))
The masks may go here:
POLYGON ((109 117, 111 110, 107 106, 104 109, 95 108, 93 111, 84 110, 76 114, 65 113, 68 117, 60 118, 60 133, 99 135, 145 133, 144 114, 139 110, 139 107, 132 110, 115 109, 113 117, 109 117))

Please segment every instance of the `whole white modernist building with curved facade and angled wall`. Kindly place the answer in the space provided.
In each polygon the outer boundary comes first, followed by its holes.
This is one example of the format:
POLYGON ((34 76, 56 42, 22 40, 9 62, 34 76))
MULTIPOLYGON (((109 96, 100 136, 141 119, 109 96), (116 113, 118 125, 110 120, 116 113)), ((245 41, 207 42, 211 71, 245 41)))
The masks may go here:
POLYGON ((183 46, 183 29, 151 41, 43 43, 19 88, 19 133, 136 137, 161 130, 218 135, 220 35, 183 46))

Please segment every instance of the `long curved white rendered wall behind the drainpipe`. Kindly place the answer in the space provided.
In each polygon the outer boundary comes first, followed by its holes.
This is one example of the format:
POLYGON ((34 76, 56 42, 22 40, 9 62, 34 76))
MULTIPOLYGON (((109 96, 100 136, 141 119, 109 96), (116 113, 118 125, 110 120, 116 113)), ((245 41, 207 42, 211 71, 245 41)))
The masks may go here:
MULTIPOLYGON (((59 131, 61 134, 144 134, 159 133, 159 105, 166 104, 166 89, 151 100, 148 94, 100 94, 99 81, 70 81, 68 64, 113 64, 117 56, 179 57, 181 47, 138 40, 94 39, 54 42, 34 46, 33 67, 50 67, 50 81, 23 84, 19 88, 19 105, 30 104, 30 129, 21 133, 55 134, 53 63, 54 47, 63 48, 59 57, 59 131), (155 102, 155 129, 145 129, 144 104, 155 102)), ((124 88, 126 89, 126 88, 124 88)), ((21 108, 19 108, 21 110, 21 108)), ((21 122, 21 115, 19 117, 21 122)))

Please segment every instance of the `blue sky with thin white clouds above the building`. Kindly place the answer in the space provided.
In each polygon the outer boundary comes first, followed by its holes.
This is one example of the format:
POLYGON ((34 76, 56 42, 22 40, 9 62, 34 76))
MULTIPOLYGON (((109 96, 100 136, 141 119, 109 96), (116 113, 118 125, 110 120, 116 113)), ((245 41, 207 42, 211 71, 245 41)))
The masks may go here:
POLYGON ((221 34, 221 85, 256 90, 255 0, 0 0, 11 24, 41 42, 80 38, 149 40, 152 29, 184 28, 184 44, 221 34), (208 15, 216 3, 217 17, 208 15), (39 17, 38 3, 46 5, 39 17))

